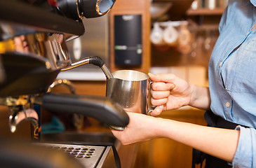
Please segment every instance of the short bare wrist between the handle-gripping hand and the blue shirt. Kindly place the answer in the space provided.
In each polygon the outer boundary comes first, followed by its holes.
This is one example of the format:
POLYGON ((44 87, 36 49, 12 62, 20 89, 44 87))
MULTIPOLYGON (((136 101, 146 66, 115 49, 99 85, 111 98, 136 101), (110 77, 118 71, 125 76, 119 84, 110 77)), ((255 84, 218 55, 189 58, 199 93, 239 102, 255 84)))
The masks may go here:
POLYGON ((191 100, 189 106, 198 109, 210 109, 210 91, 209 87, 201 87, 197 85, 190 85, 191 87, 191 100))

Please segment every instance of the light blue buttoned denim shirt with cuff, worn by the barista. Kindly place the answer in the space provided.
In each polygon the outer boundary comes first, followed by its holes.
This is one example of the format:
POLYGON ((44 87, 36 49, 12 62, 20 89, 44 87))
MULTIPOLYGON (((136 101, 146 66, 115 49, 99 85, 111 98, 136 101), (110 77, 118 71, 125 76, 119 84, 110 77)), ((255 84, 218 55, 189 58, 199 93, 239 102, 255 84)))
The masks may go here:
POLYGON ((233 167, 256 167, 256 0, 229 0, 209 62, 210 109, 238 125, 233 167))

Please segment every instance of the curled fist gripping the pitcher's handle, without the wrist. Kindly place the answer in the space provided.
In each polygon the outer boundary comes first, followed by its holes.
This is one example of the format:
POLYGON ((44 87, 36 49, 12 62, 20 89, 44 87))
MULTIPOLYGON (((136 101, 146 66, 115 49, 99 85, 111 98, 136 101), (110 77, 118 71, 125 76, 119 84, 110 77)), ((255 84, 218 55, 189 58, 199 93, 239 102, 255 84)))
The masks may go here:
POLYGON ((151 84, 151 104, 156 106, 151 116, 157 116, 163 110, 178 109, 191 102, 191 86, 186 80, 172 73, 149 73, 149 77, 154 82, 151 84))

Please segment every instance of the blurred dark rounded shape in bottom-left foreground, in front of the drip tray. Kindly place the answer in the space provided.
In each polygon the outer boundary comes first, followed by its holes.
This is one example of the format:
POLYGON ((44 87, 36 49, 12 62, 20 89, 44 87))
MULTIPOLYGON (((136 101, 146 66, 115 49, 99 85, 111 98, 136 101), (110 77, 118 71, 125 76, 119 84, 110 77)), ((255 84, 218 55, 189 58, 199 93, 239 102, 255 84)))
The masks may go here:
POLYGON ((74 157, 53 148, 36 146, 20 139, 0 139, 1 168, 82 168, 74 157))

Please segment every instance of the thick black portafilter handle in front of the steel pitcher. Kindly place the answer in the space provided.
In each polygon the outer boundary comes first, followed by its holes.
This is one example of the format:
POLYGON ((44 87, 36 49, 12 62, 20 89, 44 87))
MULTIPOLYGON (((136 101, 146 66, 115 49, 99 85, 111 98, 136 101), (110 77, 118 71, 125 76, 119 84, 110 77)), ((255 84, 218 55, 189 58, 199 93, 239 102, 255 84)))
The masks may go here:
POLYGON ((129 117, 123 108, 107 97, 81 94, 47 93, 41 100, 43 109, 56 113, 79 113, 114 127, 126 127, 129 117))

